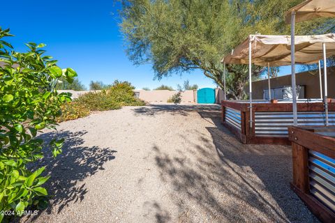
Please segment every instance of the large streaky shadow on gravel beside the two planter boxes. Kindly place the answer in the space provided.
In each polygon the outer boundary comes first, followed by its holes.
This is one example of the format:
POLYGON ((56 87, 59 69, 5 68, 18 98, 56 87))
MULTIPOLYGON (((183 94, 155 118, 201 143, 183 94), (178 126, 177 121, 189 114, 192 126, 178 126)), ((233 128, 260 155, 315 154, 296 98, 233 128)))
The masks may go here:
POLYGON ((197 212, 209 222, 318 222, 290 190, 290 148, 240 144, 221 125, 220 112, 199 114, 216 125, 206 128, 210 138, 199 132, 202 144, 188 141, 175 156, 153 147, 161 180, 172 183, 170 196, 184 210, 179 220, 197 212))

